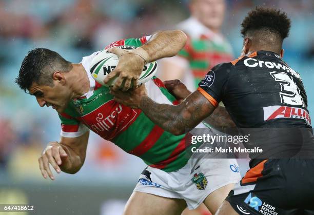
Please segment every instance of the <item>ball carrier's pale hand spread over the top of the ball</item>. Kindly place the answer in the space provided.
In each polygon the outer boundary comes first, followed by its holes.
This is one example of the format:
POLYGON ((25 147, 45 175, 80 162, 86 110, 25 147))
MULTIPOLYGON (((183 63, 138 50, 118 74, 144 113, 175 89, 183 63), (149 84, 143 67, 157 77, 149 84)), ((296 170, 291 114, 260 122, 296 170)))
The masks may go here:
POLYGON ((108 49, 108 52, 119 56, 119 62, 114 70, 108 74, 104 83, 107 84, 113 77, 119 76, 113 86, 113 90, 122 88, 123 91, 127 91, 131 87, 132 82, 133 86, 136 86, 136 82, 144 68, 143 58, 136 54, 129 54, 127 51, 117 47, 108 49))

